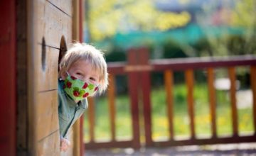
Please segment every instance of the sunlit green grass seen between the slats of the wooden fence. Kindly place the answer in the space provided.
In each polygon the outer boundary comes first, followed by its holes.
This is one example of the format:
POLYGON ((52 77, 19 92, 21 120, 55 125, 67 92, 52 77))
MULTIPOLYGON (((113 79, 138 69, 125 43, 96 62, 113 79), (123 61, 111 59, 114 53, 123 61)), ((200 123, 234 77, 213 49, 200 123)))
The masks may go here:
MULTIPOLYGON (((176 84, 174 86, 174 135, 183 137, 190 135, 190 120, 188 118, 188 107, 186 102, 186 86, 176 84)), ((196 136, 211 135, 210 108, 208 104, 207 84, 196 84, 194 86, 194 122, 196 136)), ((228 92, 216 91, 217 101, 217 133, 218 135, 232 134, 232 119, 230 111, 230 99, 228 92)), ((95 104, 96 140, 110 140, 110 117, 107 99, 105 96, 97 98, 95 104)), ((152 110, 152 132, 153 139, 169 137, 169 122, 166 112, 166 92, 164 87, 151 91, 152 110)), ((132 116, 130 114, 129 98, 127 95, 119 95, 116 99, 116 135, 118 140, 129 140, 132 138, 132 116)), ((238 109, 238 128, 240 133, 249 133, 253 130, 252 108, 238 109)), ((142 124, 141 124, 142 125, 142 124)), ((87 115, 85 113, 84 134, 86 142, 90 140, 88 131, 87 115)))

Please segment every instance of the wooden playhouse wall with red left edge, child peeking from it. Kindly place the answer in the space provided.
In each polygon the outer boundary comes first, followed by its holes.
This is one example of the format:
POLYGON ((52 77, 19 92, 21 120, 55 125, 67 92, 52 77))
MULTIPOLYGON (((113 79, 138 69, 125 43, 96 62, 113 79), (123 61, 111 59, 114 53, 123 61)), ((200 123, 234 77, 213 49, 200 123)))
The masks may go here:
MULTIPOLYGON (((81 0, 1 1, 1 155, 61 154, 58 62, 68 43, 82 40, 82 6, 81 0)), ((76 123, 65 155, 82 155, 79 135, 76 123)))

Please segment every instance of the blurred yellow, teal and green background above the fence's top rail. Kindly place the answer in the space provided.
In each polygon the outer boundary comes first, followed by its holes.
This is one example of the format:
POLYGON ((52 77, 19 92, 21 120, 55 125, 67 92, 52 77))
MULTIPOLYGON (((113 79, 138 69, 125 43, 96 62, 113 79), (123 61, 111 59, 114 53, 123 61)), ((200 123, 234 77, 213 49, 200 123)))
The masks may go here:
MULTIPOLYGON (((252 54, 255 5, 254 0, 88 0, 84 39, 107 56, 141 46, 151 49, 152 59, 252 54)), ((118 59, 124 60, 107 57, 118 59)))

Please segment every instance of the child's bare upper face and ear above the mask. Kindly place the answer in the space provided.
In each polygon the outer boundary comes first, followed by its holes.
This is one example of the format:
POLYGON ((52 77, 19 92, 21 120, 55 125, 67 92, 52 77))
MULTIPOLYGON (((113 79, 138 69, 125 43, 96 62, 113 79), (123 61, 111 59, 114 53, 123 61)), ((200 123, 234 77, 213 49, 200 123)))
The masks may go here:
MULTIPOLYGON (((92 65, 87 60, 78 60, 73 65, 71 65, 70 69, 68 69, 68 73, 76 77, 83 82, 90 82, 92 84, 99 84, 100 76, 97 70, 92 68, 92 65)), ((65 79, 68 74, 62 75, 62 79, 65 79)))

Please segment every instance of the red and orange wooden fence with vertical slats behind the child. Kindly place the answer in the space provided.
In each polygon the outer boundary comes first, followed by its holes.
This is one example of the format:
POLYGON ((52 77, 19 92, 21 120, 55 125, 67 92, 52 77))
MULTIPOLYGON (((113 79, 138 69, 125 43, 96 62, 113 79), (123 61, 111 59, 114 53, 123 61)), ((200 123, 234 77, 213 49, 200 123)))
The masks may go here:
MULTIPOLYGON (((176 145, 204 145, 217 143, 244 143, 256 141, 256 57, 238 56, 238 57, 210 57, 210 58, 183 58, 183 59, 165 59, 149 60, 149 52, 144 49, 129 50, 127 55, 128 62, 110 62, 108 70, 110 73, 110 86, 107 92, 110 114, 111 140, 105 143, 95 142, 95 110, 94 102, 90 99, 88 110, 90 141, 85 144, 87 149, 100 147, 134 147, 139 148, 142 145, 140 140, 140 126, 144 130, 146 146, 164 147, 176 145), (252 135, 239 135, 238 133, 238 108, 236 106, 236 83, 235 68, 240 66, 250 67, 250 88, 252 89, 252 135), (228 137, 218 137, 216 124, 216 93, 214 87, 215 69, 227 68, 230 79, 230 104, 232 116, 232 133, 228 137), (195 133, 195 108, 193 104, 194 76, 196 69, 206 70, 208 83, 208 104, 210 108, 210 138, 197 138, 195 133), (174 139, 174 72, 181 71, 185 74, 187 89, 188 118, 190 120, 190 138, 186 140, 174 139), (166 91, 166 118, 169 123, 169 139, 165 141, 155 141, 152 139, 152 110, 151 110, 151 72, 164 73, 164 86, 166 91), (129 99, 132 116, 132 139, 128 141, 117 141, 116 139, 116 112, 115 112, 115 77, 117 75, 127 75, 129 99), (136 87, 135 87, 136 86, 136 87), (139 93, 142 96, 138 96, 139 93), (139 98, 142 97, 142 108, 144 124, 139 124, 139 98)), ((106 121, 107 122, 107 121, 106 121)))

